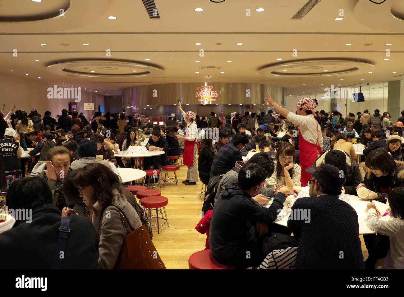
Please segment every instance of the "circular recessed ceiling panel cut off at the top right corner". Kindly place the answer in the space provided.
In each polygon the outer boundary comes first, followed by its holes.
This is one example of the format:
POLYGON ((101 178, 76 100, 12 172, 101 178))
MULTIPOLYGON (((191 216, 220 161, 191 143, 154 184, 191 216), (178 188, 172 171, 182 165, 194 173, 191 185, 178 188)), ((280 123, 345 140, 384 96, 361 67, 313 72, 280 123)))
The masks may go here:
POLYGON ((382 4, 358 1, 353 8, 356 20, 368 28, 404 32, 404 1, 386 0, 382 4))

